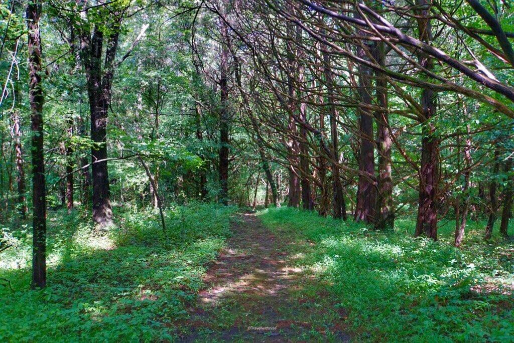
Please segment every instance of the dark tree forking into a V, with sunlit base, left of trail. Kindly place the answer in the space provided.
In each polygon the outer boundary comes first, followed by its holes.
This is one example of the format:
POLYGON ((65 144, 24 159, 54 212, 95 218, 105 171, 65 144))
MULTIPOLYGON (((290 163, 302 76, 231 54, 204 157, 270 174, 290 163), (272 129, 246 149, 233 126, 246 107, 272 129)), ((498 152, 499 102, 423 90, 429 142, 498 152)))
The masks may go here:
MULTIPOLYGON (((80 2, 84 8, 87 1, 80 2)), ((130 50, 116 62, 116 52, 123 18, 127 15, 128 5, 113 3, 102 7, 100 18, 96 21, 78 17, 80 37, 80 59, 86 72, 89 112, 91 117, 91 177, 93 179, 93 220, 99 226, 112 222, 113 211, 109 194, 109 175, 107 170, 107 122, 111 105, 111 92, 115 69, 132 52, 135 44, 144 34, 148 25, 143 25, 141 33, 130 50), (105 54, 103 56, 103 47, 105 54), (102 65, 102 56, 104 59, 102 65)), ((82 11, 87 11, 83 9, 82 11)))

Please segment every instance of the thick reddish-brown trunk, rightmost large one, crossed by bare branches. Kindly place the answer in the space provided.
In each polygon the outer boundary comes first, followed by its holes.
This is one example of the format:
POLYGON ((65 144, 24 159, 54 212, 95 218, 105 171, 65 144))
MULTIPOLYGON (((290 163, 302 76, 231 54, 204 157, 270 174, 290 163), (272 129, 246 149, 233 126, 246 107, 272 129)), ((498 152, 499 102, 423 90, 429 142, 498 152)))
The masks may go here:
MULTIPOLYGON (((425 9, 419 11, 417 18, 419 38, 425 43, 432 40, 432 29, 429 20, 429 9, 426 0, 418 0, 417 4, 425 9)), ((424 52, 418 52, 419 64, 424 68, 433 69, 433 61, 424 52)), ((425 117, 422 125, 423 140, 421 142, 421 168, 419 172, 419 200, 415 236, 425 235, 437 240, 437 187, 439 168, 439 142, 435 137, 435 127, 431 118, 436 113, 435 94, 431 89, 424 88, 421 93, 421 107, 425 117)))

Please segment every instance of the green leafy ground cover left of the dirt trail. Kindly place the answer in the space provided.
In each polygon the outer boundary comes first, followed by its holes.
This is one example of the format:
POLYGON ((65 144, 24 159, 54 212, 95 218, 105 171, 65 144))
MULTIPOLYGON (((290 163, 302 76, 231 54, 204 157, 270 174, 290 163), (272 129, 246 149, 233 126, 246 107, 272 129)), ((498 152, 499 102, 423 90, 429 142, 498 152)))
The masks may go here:
POLYGON ((178 206, 166 213, 116 213, 95 236, 77 213, 50 213, 48 287, 30 291, 30 227, 12 232, 0 253, 0 340, 155 341, 175 337, 174 322, 201 287, 206 264, 229 235, 234 207, 178 206))

